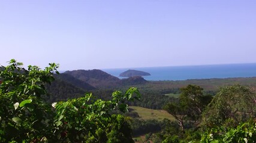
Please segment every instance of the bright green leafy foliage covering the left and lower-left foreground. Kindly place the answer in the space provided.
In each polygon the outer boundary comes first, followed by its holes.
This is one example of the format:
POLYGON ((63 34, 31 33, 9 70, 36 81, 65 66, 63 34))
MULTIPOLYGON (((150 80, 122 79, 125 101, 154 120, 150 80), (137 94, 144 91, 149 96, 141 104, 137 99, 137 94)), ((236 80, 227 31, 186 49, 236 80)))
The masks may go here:
POLYGON ((110 112, 127 112, 125 101, 140 99, 137 88, 129 88, 124 95, 113 92, 109 101, 92 100, 92 94, 86 94, 47 104, 41 97, 47 95, 44 87, 58 73, 58 64, 49 65, 44 70, 24 69, 22 63, 11 60, 9 66, 1 67, 1 142, 133 142, 128 120, 110 112))

